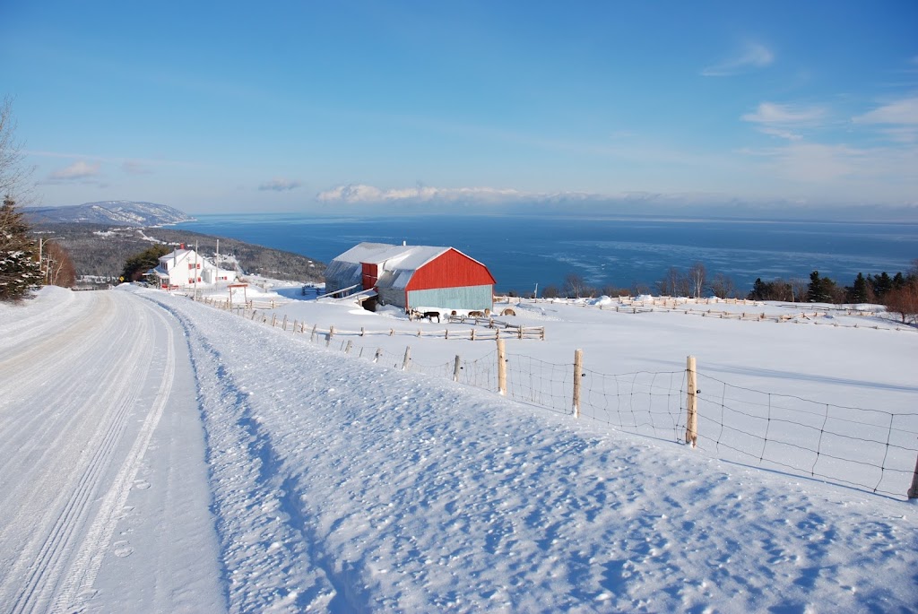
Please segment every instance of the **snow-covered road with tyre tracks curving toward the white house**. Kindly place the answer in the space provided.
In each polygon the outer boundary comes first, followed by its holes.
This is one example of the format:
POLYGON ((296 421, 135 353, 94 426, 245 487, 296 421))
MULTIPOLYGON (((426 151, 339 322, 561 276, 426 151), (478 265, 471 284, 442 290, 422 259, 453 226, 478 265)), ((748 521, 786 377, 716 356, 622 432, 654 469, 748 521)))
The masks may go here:
POLYGON ((79 608, 100 592, 108 611, 138 596, 158 611, 221 607, 174 318, 123 292, 49 289, 17 308, 0 324, 4 611, 79 608))

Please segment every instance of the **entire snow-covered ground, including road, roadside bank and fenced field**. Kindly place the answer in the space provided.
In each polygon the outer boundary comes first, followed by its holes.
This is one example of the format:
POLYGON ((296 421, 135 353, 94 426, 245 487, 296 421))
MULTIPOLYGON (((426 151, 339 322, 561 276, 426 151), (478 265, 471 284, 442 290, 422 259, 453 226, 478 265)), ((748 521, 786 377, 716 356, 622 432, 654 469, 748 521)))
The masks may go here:
POLYGON ((502 397, 471 324, 297 291, 0 306, 3 611, 918 608, 913 329, 513 304, 502 397))

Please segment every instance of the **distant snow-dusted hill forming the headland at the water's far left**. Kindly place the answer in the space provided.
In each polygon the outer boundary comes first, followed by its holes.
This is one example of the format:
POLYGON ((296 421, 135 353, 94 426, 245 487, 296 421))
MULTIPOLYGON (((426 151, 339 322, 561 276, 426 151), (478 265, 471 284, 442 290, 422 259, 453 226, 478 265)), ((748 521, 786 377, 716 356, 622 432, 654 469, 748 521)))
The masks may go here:
POLYGON ((106 200, 71 207, 26 207, 22 211, 32 224, 81 223, 148 227, 194 219, 174 207, 130 200, 106 200))

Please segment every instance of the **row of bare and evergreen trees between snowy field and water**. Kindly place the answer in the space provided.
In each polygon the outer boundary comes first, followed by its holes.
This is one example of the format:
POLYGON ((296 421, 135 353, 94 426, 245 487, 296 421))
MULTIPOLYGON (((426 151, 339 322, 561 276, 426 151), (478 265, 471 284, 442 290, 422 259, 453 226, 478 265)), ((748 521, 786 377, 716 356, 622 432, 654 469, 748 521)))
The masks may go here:
MULTIPOLYGON (((839 285, 818 271, 813 271, 809 279, 778 278, 764 282, 757 278, 749 292, 738 288, 728 275, 710 275, 702 262, 695 262, 687 270, 670 267, 653 287, 644 284, 634 284, 630 288, 612 285, 594 287, 580 275, 572 273, 565 277, 563 285, 547 285, 540 295, 543 298, 581 298, 638 296, 651 292, 661 296, 717 296, 791 303, 871 303, 885 305, 890 313, 897 314, 906 323, 918 318, 918 260, 913 261, 912 268, 904 274, 900 272, 890 276, 883 272, 865 276, 858 273, 851 285, 839 285)), ((512 290, 508 294, 518 296, 512 290)))

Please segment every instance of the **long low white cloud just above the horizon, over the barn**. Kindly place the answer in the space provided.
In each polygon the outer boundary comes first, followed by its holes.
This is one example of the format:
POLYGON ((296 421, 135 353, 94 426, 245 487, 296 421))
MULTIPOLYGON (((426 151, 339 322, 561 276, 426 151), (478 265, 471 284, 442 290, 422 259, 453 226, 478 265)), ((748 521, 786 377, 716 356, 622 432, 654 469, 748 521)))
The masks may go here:
POLYGON ((494 187, 431 187, 418 185, 416 187, 403 187, 381 189, 374 185, 348 184, 333 187, 320 192, 316 197, 321 202, 342 203, 388 203, 395 201, 455 201, 474 200, 481 201, 507 201, 517 198, 532 196, 518 190, 501 189, 494 187))

